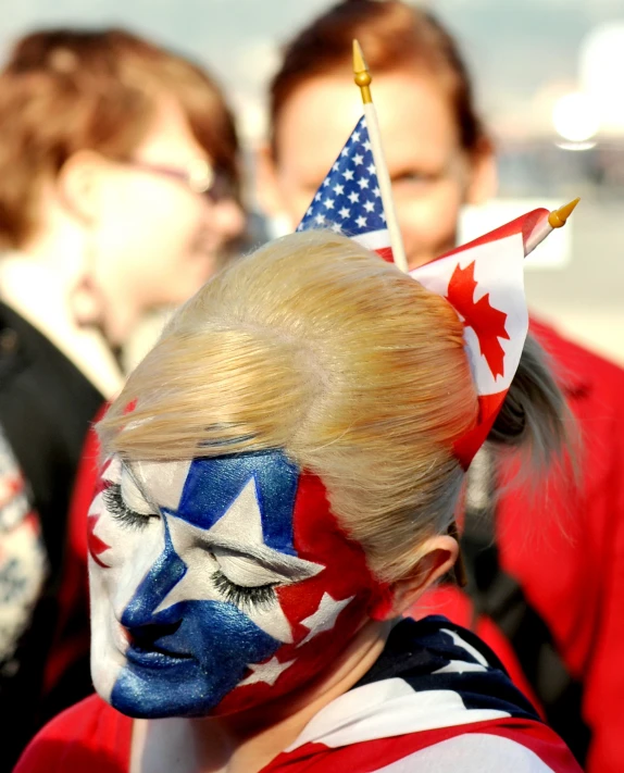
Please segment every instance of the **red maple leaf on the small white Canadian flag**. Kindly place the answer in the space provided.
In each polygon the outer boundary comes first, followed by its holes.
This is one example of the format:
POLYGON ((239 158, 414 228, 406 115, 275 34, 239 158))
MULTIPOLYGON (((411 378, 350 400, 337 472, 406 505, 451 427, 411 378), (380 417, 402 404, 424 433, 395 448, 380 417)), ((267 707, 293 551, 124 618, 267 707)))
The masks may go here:
POLYGON ((474 291, 477 283, 474 278, 474 263, 469 263, 465 269, 460 269, 459 263, 457 264, 449 282, 447 300, 463 316, 464 325, 475 332, 481 353, 496 378, 503 373, 504 350, 499 339, 509 340, 504 327, 507 314, 490 306, 489 292, 475 303, 474 291))

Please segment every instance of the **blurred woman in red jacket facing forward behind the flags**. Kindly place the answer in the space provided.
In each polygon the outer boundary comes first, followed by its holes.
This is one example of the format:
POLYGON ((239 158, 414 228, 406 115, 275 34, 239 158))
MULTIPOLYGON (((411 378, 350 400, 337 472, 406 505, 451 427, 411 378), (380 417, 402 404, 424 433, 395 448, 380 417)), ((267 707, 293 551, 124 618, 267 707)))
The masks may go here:
MULTIPOLYGON (((259 197, 295 226, 361 114, 352 85, 358 38, 374 75, 399 225, 410 267, 455 245, 460 210, 496 188, 492 142, 458 45, 430 14, 398 0, 346 0, 286 47, 271 87, 271 136, 259 197), (323 130, 319 130, 322 116, 323 130)), ((471 625, 588 770, 621 771, 624 744, 624 374, 532 321, 579 419, 579 490, 565 471, 497 501, 487 451, 473 465, 463 533, 470 598, 441 588, 424 602, 471 625), (476 474, 478 472, 478 475, 476 474), (589 750, 589 751, 588 751, 589 750)), ((416 610, 417 612, 417 610, 416 610)))

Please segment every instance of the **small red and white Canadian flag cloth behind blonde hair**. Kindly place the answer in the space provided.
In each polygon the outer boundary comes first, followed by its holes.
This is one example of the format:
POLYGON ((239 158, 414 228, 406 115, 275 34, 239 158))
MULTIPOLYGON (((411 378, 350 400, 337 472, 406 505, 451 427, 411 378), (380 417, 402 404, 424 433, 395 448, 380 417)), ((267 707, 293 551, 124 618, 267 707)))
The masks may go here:
POLYGON ((476 426, 457 440, 464 467, 485 441, 517 370, 528 332, 524 258, 550 230, 537 209, 410 272, 446 298, 464 323, 479 401, 476 426))

